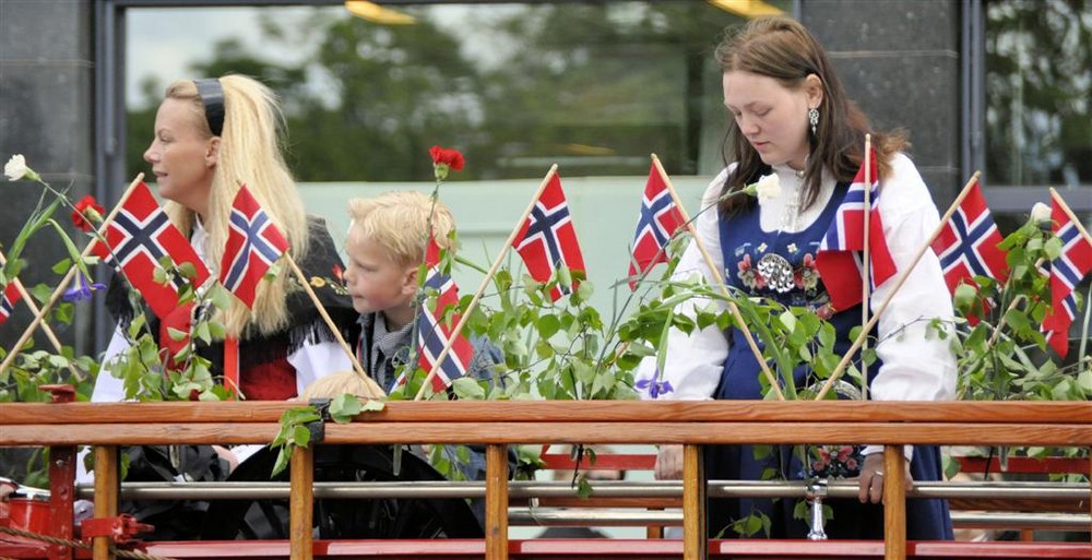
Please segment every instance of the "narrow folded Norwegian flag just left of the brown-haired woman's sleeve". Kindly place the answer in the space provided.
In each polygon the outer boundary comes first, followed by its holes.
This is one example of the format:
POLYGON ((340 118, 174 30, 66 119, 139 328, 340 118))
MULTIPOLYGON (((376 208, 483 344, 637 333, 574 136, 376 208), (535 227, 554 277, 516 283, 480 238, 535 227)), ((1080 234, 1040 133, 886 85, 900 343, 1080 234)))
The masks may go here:
POLYGON ((641 199, 641 214, 633 236, 633 258, 629 263, 629 289, 637 289, 636 277, 653 265, 667 262, 667 241, 682 225, 682 213, 675 205, 663 176, 652 164, 641 199))

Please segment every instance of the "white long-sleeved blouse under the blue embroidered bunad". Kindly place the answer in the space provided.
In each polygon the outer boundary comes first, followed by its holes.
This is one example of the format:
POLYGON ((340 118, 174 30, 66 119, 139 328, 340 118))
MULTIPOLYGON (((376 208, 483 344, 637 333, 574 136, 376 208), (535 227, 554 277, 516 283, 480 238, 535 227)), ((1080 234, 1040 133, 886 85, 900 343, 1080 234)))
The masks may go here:
MULTIPOLYGON (((731 168, 729 168, 731 169, 731 168)), ((776 199, 762 201, 759 212, 763 229, 797 233, 818 219, 830 201, 835 181, 824 174, 820 194, 815 204, 798 212, 797 201, 802 179, 788 167, 778 166, 782 193, 776 199)), ((702 207, 709 206, 720 194, 728 169, 722 171, 705 190, 702 207)), ((939 224, 937 208, 925 181, 916 167, 903 154, 892 160, 891 176, 882 181, 877 206, 883 216, 891 257, 899 273, 910 265, 915 253, 925 245, 939 224)), ((716 208, 702 213, 696 223, 697 235, 709 249, 713 266, 724 270, 717 229, 716 208)), ((709 265, 696 243, 690 242, 682 254, 675 278, 704 275, 713 283, 709 265)), ((873 291, 870 302, 876 309, 890 294, 897 274, 873 291)), ((676 312, 695 315, 697 306, 709 301, 691 300, 679 306, 676 312)), ((721 305, 721 303, 719 303, 721 305)), ((722 305, 723 307, 723 305, 722 305)), ((945 401, 956 395, 956 358, 948 341, 929 332, 933 319, 953 318, 951 298, 945 284, 940 262, 933 251, 926 251, 911 272, 906 282, 892 297, 877 324, 879 344, 876 353, 882 360, 871 384, 870 397, 876 401, 945 401)), ((951 324, 950 321, 947 324, 951 324)), ((728 341, 715 325, 687 335, 678 330, 668 333, 666 365, 662 379, 669 381, 674 391, 658 398, 703 400, 712 398, 721 380, 728 341)), ((638 379, 651 379, 655 373, 655 357, 642 361, 638 379)), ((648 391, 641 395, 649 398, 648 391)), ((868 450, 873 451, 873 450, 868 450)))

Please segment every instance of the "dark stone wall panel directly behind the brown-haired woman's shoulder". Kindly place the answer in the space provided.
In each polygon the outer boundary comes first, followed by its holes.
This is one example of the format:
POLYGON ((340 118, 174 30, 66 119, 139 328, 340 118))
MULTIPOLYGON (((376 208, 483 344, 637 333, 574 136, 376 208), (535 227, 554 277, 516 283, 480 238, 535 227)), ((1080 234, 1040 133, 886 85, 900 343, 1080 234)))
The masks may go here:
POLYGON ((802 0, 800 21, 879 130, 905 129, 945 210, 960 177, 960 3, 956 0, 802 0))

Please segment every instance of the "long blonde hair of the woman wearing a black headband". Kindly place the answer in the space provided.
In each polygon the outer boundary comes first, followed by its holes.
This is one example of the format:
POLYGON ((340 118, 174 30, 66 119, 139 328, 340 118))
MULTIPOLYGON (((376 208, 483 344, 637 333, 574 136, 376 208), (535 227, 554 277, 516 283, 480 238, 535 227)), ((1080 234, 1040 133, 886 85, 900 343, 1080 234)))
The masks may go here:
MULTIPOLYGON (((202 223, 209 234, 205 257, 212 266, 219 266, 227 242, 232 203, 242 183, 288 239, 292 255, 299 261, 307 251, 310 234, 302 200, 281 154, 284 117, 276 95, 262 83, 244 75, 225 75, 219 84, 224 90, 224 130, 209 194, 209 215, 202 223)), ((174 82, 167 87, 166 97, 191 102, 198 128, 206 138, 212 138, 204 105, 192 81, 174 82)), ((165 211, 182 234, 191 234, 195 219, 192 210, 168 201, 165 211)), ((269 335, 283 329, 288 323, 287 276, 281 274, 259 284, 253 311, 241 301, 233 300, 232 307, 217 311, 215 319, 235 337, 248 331, 269 335)))

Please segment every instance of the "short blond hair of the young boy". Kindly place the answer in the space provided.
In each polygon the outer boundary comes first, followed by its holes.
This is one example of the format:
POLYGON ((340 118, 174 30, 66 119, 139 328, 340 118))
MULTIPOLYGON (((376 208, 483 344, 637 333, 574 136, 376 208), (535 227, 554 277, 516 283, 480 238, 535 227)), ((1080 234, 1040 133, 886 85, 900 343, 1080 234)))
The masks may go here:
POLYGON ((432 236, 441 249, 451 245, 449 236, 455 227, 455 218, 444 203, 417 191, 353 199, 348 212, 353 218, 351 229, 379 243, 392 263, 405 267, 425 262, 430 219, 432 236))

